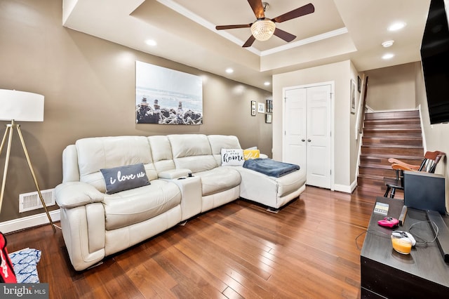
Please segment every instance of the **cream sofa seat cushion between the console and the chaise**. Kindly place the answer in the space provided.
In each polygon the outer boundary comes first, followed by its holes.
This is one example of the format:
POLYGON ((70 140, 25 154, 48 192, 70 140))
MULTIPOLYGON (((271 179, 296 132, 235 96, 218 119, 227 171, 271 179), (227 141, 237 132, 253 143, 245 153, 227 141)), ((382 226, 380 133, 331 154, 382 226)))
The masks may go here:
POLYGON ((203 197, 226 191, 240 185, 239 171, 231 167, 217 167, 210 171, 195 173, 201 178, 201 192, 203 197))

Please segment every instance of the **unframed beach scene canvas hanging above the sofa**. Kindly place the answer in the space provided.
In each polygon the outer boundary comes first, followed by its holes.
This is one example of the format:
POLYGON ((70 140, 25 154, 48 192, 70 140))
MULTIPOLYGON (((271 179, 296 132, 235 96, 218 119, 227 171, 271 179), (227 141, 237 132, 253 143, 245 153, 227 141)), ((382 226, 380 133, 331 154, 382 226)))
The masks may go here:
POLYGON ((203 124, 201 77, 135 62, 136 124, 203 124))

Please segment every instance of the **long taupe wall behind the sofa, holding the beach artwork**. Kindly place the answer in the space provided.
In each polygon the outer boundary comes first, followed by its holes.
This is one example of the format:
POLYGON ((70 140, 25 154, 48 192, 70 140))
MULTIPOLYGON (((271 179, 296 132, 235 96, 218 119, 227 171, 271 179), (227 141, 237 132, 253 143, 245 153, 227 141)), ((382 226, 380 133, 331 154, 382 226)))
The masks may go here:
MULTIPOLYGON (((76 139, 91 136, 237 135, 242 147, 257 145, 271 156, 272 125, 264 123, 264 114, 250 116, 250 100, 265 102, 271 98, 267 91, 134 51, 61 24, 62 1, 0 0, 0 88, 45 96, 44 121, 21 124, 42 190, 62 181, 62 150, 76 139), (135 60, 203 77, 203 125, 135 124, 135 60)), ((4 156, 0 158, 1 170, 4 156)), ((19 194, 34 191, 15 135, 0 221, 41 213, 42 210, 18 213, 19 194)))

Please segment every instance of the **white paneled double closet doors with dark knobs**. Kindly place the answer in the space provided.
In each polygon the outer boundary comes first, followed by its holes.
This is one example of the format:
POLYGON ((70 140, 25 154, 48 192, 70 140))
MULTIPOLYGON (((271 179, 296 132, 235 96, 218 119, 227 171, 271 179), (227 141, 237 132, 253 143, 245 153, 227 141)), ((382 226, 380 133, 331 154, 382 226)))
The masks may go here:
POLYGON ((284 89, 283 157, 306 168, 307 185, 331 187, 332 85, 284 89))

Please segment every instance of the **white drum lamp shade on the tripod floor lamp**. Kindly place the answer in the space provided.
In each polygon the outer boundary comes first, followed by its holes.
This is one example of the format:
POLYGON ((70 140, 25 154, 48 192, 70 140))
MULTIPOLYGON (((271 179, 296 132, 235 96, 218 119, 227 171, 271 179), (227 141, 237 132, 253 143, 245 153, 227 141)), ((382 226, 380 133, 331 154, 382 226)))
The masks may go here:
POLYGON ((0 89, 0 120, 43 121, 43 95, 0 89))

